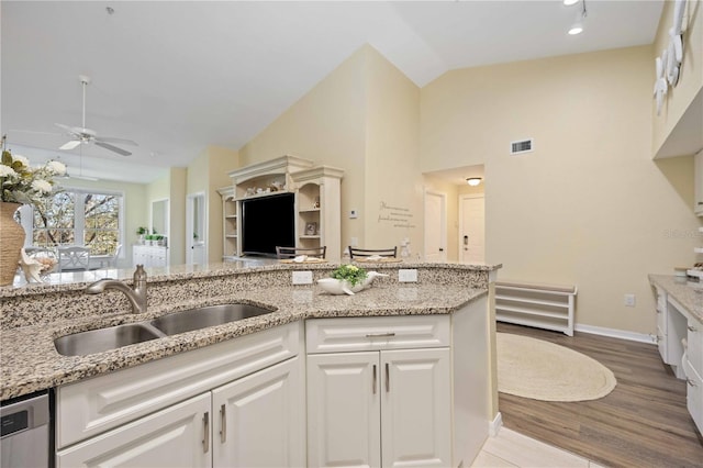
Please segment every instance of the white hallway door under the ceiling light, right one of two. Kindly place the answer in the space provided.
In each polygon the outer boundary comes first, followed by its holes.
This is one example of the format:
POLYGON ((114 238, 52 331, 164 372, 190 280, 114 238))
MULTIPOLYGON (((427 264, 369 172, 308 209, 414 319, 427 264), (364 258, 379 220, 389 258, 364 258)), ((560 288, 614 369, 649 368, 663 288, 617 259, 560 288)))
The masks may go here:
POLYGON ((464 264, 486 261, 486 209, 483 196, 459 198, 459 259, 464 264))

